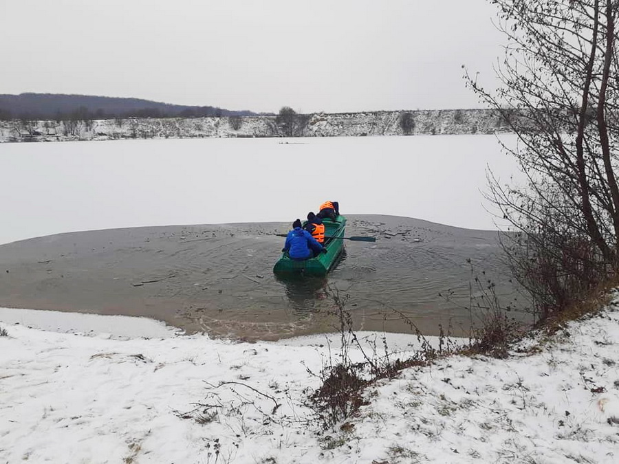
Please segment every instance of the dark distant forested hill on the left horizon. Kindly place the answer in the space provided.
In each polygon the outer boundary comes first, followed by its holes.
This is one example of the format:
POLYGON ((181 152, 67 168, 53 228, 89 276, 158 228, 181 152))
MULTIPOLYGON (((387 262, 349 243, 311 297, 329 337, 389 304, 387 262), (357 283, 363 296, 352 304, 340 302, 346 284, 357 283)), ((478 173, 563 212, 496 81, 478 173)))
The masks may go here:
POLYGON ((112 118, 203 118, 248 116, 252 111, 192 107, 140 98, 63 95, 61 93, 0 94, 0 120, 95 120, 112 118))

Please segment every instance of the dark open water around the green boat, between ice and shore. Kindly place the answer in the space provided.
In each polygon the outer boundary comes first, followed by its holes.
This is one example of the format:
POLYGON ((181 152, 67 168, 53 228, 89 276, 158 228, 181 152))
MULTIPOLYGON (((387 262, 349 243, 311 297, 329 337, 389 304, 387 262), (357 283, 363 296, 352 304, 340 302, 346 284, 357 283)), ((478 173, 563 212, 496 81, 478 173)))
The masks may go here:
POLYGON ((466 333, 471 264, 506 301, 515 296, 497 232, 347 217, 347 236, 377 241, 345 241, 326 278, 274 276, 284 241, 274 234, 287 232, 284 223, 74 232, 0 245, 0 307, 147 316, 188 332, 274 340, 332 331, 334 292, 357 329, 408 332, 413 322, 426 334, 439 324, 466 333))

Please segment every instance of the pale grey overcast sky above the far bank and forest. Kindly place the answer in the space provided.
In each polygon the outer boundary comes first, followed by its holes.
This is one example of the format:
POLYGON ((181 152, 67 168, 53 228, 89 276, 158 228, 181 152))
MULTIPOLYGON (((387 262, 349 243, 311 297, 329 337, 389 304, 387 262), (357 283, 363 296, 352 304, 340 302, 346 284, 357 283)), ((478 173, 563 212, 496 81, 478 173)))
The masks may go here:
POLYGON ((226 109, 480 107, 493 82, 487 0, 0 0, 0 93, 226 109))

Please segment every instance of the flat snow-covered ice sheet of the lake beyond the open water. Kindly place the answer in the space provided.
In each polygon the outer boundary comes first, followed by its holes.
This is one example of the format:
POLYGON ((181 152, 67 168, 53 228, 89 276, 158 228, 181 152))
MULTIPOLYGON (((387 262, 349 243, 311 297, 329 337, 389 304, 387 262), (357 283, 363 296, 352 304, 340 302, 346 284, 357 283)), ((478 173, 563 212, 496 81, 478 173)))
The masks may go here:
POLYGON ((490 230, 486 166, 501 179, 517 171, 493 135, 0 144, 0 243, 145 225, 292 223, 325 199, 344 214, 490 230))

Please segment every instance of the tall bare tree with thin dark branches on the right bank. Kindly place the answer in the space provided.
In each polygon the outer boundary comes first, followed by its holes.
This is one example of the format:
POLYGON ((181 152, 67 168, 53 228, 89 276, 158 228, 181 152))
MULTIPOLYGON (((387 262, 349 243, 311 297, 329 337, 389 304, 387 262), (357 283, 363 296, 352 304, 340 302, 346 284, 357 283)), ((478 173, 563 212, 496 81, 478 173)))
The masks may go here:
POLYGON ((517 232, 503 248, 544 318, 618 271, 619 1, 492 3, 508 38, 501 86, 465 78, 518 137, 503 148, 527 185, 489 173, 489 197, 517 232))

